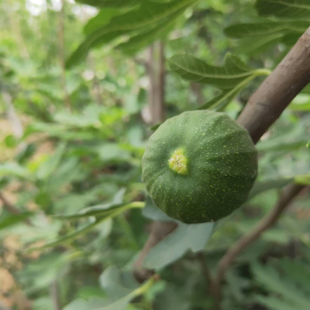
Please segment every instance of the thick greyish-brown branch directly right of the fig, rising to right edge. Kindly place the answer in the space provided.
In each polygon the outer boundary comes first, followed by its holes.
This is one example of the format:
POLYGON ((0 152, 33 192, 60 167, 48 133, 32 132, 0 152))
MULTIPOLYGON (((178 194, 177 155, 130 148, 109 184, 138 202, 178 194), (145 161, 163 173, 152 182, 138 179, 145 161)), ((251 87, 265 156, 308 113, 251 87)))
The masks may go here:
POLYGON ((310 82, 310 27, 250 97, 238 117, 254 143, 310 82))

